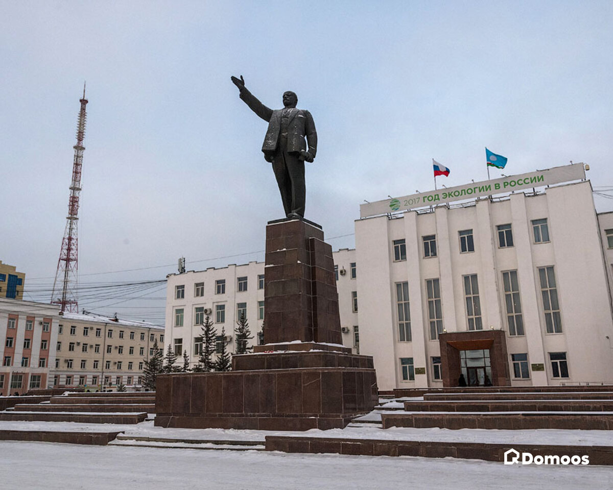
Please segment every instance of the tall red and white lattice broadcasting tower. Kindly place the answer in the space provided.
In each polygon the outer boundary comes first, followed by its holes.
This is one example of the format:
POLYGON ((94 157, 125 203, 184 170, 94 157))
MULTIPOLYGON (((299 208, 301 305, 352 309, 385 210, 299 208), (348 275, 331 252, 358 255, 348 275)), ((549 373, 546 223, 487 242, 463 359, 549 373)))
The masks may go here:
POLYGON ((66 217, 66 230, 62 240, 62 248, 59 251, 58 271, 53 282, 51 304, 59 304, 62 312, 77 312, 77 222, 78 222, 78 198, 81 192, 81 167, 83 165, 83 138, 85 138, 85 84, 83 84, 83 99, 80 99, 81 110, 78 113, 77 144, 74 162, 72 164, 72 181, 70 183, 70 198, 68 200, 68 216, 66 217))

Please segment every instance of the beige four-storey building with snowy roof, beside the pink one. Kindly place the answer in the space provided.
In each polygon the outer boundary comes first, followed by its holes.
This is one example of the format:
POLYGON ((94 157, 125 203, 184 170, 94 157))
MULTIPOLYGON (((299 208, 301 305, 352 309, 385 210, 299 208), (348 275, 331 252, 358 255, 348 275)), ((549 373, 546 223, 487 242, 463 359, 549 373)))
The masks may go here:
POLYGON ((164 327, 92 314, 59 318, 51 386, 140 385, 154 343, 164 349, 164 327))

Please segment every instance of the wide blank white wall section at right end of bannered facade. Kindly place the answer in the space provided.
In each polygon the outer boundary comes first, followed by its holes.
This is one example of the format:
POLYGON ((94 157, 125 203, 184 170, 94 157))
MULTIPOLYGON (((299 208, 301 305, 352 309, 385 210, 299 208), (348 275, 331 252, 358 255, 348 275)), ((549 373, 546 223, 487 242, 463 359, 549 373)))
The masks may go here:
POLYGON ((601 240, 592 187, 589 182, 550 187, 546 196, 570 380, 613 382, 613 349, 606 339, 613 338, 613 322, 606 264, 596 253, 601 240))

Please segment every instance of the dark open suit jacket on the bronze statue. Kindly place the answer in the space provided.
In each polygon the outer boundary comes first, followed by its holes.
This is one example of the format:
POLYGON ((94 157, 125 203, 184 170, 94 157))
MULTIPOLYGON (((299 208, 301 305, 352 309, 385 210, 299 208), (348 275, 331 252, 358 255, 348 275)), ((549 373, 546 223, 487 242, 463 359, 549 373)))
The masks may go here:
POLYGON ((317 133, 315 131, 315 123, 313 122, 313 116, 307 110, 292 108, 290 109, 289 119, 287 123, 287 148, 278 148, 279 134, 281 132, 281 114, 283 109, 272 110, 266 107, 262 102, 256 99, 251 92, 246 88, 240 91, 240 98, 243 99, 245 104, 251 108, 258 116, 264 121, 268 121, 268 130, 264 137, 264 144, 262 145, 262 151, 265 154, 273 154, 277 150, 283 151, 286 149, 288 153, 299 152, 300 150, 307 150, 315 157, 317 151, 317 133))

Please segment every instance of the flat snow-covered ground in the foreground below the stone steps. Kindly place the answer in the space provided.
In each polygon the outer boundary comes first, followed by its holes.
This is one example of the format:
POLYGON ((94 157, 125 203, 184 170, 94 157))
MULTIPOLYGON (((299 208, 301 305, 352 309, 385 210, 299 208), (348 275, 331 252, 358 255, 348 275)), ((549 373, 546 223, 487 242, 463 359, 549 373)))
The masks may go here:
POLYGON ((604 466, 0 442, 2 490, 610 490, 604 466))

